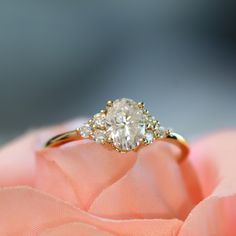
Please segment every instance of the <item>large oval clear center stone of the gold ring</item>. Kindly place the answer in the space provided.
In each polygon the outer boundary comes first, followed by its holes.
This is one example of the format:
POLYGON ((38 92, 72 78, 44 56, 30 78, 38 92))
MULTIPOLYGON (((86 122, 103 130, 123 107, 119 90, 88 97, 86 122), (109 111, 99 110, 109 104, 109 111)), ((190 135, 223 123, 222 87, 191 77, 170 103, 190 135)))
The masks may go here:
POLYGON ((106 124, 109 138, 120 151, 133 150, 145 135, 144 111, 132 99, 115 100, 108 108, 106 124))

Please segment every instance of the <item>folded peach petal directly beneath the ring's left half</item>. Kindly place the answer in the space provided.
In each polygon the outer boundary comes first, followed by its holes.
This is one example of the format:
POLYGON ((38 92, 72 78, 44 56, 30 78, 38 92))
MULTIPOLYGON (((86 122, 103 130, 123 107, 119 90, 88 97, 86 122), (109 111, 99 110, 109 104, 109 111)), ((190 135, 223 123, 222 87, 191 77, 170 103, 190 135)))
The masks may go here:
POLYGON ((71 195, 69 198, 65 196, 68 191, 58 184, 59 177, 54 178, 58 176, 58 170, 60 170, 61 175, 64 176, 61 178, 61 183, 63 186, 67 185, 67 189, 71 188, 74 191, 77 196, 76 205, 82 209, 87 209, 104 188, 121 178, 136 161, 135 153, 124 156, 86 140, 59 148, 44 149, 37 155, 41 163, 37 170, 40 180, 35 186, 71 201, 71 195), (52 162, 55 165, 50 164, 52 162))

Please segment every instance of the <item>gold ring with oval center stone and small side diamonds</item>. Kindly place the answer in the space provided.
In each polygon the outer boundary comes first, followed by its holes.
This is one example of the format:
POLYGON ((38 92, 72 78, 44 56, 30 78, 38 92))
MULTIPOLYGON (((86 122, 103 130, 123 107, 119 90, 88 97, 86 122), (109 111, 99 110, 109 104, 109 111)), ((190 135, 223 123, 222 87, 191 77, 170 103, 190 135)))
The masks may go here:
POLYGON ((80 139, 93 139, 96 143, 126 153, 156 141, 175 144, 181 150, 178 161, 187 157, 188 143, 180 135, 160 126, 143 102, 122 98, 109 100, 104 110, 75 130, 51 138, 46 147, 57 147, 80 139))

